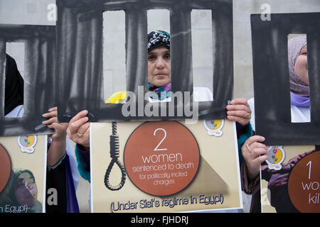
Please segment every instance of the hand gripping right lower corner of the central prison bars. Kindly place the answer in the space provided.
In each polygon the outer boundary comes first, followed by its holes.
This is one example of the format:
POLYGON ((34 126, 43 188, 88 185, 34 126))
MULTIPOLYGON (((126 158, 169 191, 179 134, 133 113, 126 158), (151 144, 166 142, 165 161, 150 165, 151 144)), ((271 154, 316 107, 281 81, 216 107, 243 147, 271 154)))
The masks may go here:
POLYGON ((233 99, 227 106, 227 118, 230 121, 236 121, 242 126, 247 125, 251 119, 251 109, 247 104, 247 99, 233 99))

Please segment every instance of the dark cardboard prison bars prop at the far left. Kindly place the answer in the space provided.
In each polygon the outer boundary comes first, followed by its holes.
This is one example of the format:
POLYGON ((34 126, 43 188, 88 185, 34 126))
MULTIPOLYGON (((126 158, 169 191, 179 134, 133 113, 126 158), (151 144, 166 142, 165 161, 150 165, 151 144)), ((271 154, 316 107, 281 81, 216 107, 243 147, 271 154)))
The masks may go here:
POLYGON ((0 136, 52 134, 42 114, 55 103, 55 26, 0 25, 0 136), (24 115, 4 117, 6 43, 25 44, 24 115))

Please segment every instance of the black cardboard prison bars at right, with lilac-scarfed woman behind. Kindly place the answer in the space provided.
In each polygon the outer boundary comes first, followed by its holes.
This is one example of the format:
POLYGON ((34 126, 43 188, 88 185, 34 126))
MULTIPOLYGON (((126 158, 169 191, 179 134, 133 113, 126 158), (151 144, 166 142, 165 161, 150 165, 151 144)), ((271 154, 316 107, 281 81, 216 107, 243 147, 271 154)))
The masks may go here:
POLYGON ((320 13, 272 13, 270 21, 252 14, 255 128, 267 145, 320 144, 320 13), (292 123, 288 35, 306 34, 310 123, 292 123))

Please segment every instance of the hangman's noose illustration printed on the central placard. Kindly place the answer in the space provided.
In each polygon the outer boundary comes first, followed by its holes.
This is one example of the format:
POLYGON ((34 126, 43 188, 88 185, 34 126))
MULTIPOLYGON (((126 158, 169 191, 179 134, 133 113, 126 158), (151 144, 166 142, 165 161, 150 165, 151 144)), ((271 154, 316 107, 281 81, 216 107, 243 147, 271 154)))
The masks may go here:
POLYGON ((117 191, 124 186, 124 182, 126 181, 126 170, 122 162, 119 161, 119 137, 117 135, 117 123, 112 122, 112 135, 110 135, 110 157, 112 158, 107 172, 105 172, 105 187, 112 191, 117 191), (121 182, 117 186, 113 186, 109 182, 110 172, 112 167, 116 163, 121 170, 121 182))

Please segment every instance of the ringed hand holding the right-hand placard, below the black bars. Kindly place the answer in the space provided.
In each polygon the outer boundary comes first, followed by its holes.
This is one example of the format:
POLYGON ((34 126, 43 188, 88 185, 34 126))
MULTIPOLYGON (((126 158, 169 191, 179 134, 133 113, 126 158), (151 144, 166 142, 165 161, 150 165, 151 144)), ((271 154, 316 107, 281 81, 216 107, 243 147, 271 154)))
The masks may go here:
POLYGON ((253 135, 245 141, 241 148, 250 181, 259 175, 261 163, 268 159, 268 148, 262 143, 263 141, 265 141, 264 137, 253 135))

